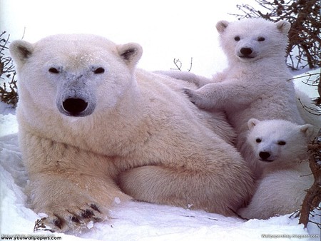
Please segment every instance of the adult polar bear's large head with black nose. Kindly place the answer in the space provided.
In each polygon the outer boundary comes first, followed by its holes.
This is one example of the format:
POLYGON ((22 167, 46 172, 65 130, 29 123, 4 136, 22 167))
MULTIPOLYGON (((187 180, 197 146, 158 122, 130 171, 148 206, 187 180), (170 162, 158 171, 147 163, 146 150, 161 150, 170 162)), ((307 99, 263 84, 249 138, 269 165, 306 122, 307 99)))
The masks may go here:
POLYGON ((83 34, 14 41, 9 49, 19 74, 19 105, 76 117, 113 108, 133 86, 142 54, 137 43, 116 45, 83 34))

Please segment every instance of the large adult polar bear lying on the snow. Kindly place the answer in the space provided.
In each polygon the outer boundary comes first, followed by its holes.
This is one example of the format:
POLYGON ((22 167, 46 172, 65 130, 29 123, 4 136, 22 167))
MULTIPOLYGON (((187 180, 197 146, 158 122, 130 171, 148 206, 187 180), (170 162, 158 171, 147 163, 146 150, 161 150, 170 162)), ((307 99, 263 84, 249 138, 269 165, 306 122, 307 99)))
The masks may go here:
POLYGON ((58 35, 10 51, 31 207, 49 215, 41 225, 77 232, 130 196, 222 215, 250 198, 224 116, 190 103, 190 84, 136 69, 138 44, 58 35))

